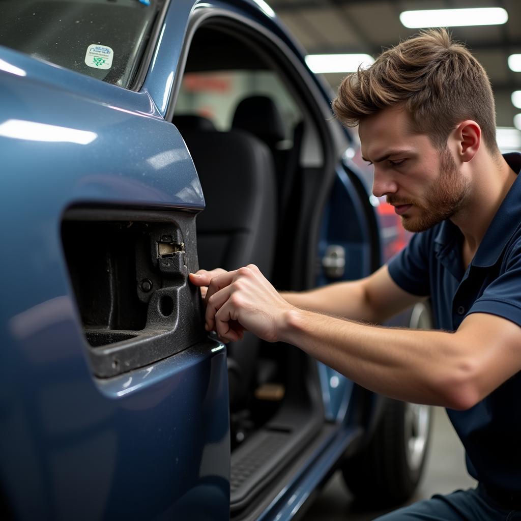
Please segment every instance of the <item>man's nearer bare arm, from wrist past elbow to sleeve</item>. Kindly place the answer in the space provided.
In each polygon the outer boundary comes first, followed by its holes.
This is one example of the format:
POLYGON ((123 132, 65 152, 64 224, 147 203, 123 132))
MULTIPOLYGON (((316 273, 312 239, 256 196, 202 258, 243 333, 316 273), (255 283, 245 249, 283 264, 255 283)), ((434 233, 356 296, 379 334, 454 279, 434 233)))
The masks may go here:
POLYGON ((469 315, 454 333, 366 326, 297 309, 280 340, 367 389, 456 410, 474 406, 521 369, 521 328, 469 315))

